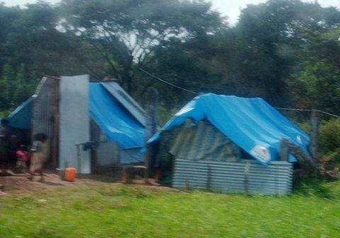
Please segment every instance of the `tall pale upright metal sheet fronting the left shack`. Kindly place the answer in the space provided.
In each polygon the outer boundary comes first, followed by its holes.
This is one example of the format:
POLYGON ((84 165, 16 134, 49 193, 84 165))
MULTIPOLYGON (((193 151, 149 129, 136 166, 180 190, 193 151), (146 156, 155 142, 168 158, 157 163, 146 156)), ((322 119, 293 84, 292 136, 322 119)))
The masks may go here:
POLYGON ((89 149, 80 149, 80 163, 77 159, 76 144, 89 142, 89 75, 61 77, 60 79, 60 159, 75 167, 78 173, 90 174, 89 149), (79 165, 81 164, 81 165, 79 165))

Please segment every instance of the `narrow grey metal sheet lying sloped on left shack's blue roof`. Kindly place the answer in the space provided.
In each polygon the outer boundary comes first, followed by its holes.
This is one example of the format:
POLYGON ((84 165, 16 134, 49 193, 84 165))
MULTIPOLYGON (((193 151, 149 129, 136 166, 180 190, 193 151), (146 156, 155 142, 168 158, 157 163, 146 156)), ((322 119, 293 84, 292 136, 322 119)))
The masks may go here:
POLYGON ((135 117, 141 125, 147 125, 147 113, 140 105, 117 83, 113 81, 102 82, 106 90, 117 99, 130 113, 135 117))

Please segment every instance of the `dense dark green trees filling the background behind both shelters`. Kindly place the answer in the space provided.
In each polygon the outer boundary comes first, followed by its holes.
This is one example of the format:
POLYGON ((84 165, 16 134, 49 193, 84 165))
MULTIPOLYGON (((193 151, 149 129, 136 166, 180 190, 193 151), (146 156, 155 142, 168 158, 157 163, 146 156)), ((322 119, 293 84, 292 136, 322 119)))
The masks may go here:
POLYGON ((340 109, 340 11, 317 1, 250 4, 234 27, 205 0, 0 4, 0 29, 2 115, 44 75, 77 74, 118 79, 142 105, 153 86, 168 112, 203 87, 274 107, 340 109))

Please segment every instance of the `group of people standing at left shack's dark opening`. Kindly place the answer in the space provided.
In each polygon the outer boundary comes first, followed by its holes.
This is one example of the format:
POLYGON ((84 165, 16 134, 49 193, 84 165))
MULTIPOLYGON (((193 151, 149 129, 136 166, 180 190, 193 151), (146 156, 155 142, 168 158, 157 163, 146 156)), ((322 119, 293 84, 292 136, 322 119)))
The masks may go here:
POLYGON ((44 177, 42 169, 50 158, 50 140, 44 133, 37 133, 35 141, 30 149, 21 145, 16 135, 8 134, 8 120, 1 120, 0 128, 0 174, 8 174, 8 169, 16 173, 28 173, 27 178, 32 180, 33 175, 38 173, 40 180, 44 177))

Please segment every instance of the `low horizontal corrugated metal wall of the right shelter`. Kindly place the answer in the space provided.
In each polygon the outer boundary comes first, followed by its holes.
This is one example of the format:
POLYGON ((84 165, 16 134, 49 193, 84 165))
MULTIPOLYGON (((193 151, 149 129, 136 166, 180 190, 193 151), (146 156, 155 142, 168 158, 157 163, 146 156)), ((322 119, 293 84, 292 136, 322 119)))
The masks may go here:
POLYGON ((268 166, 256 160, 242 162, 191 161, 176 158, 174 188, 199 188, 227 193, 245 192, 246 162, 250 162, 249 193, 285 195, 292 193, 293 164, 271 162, 268 166))

